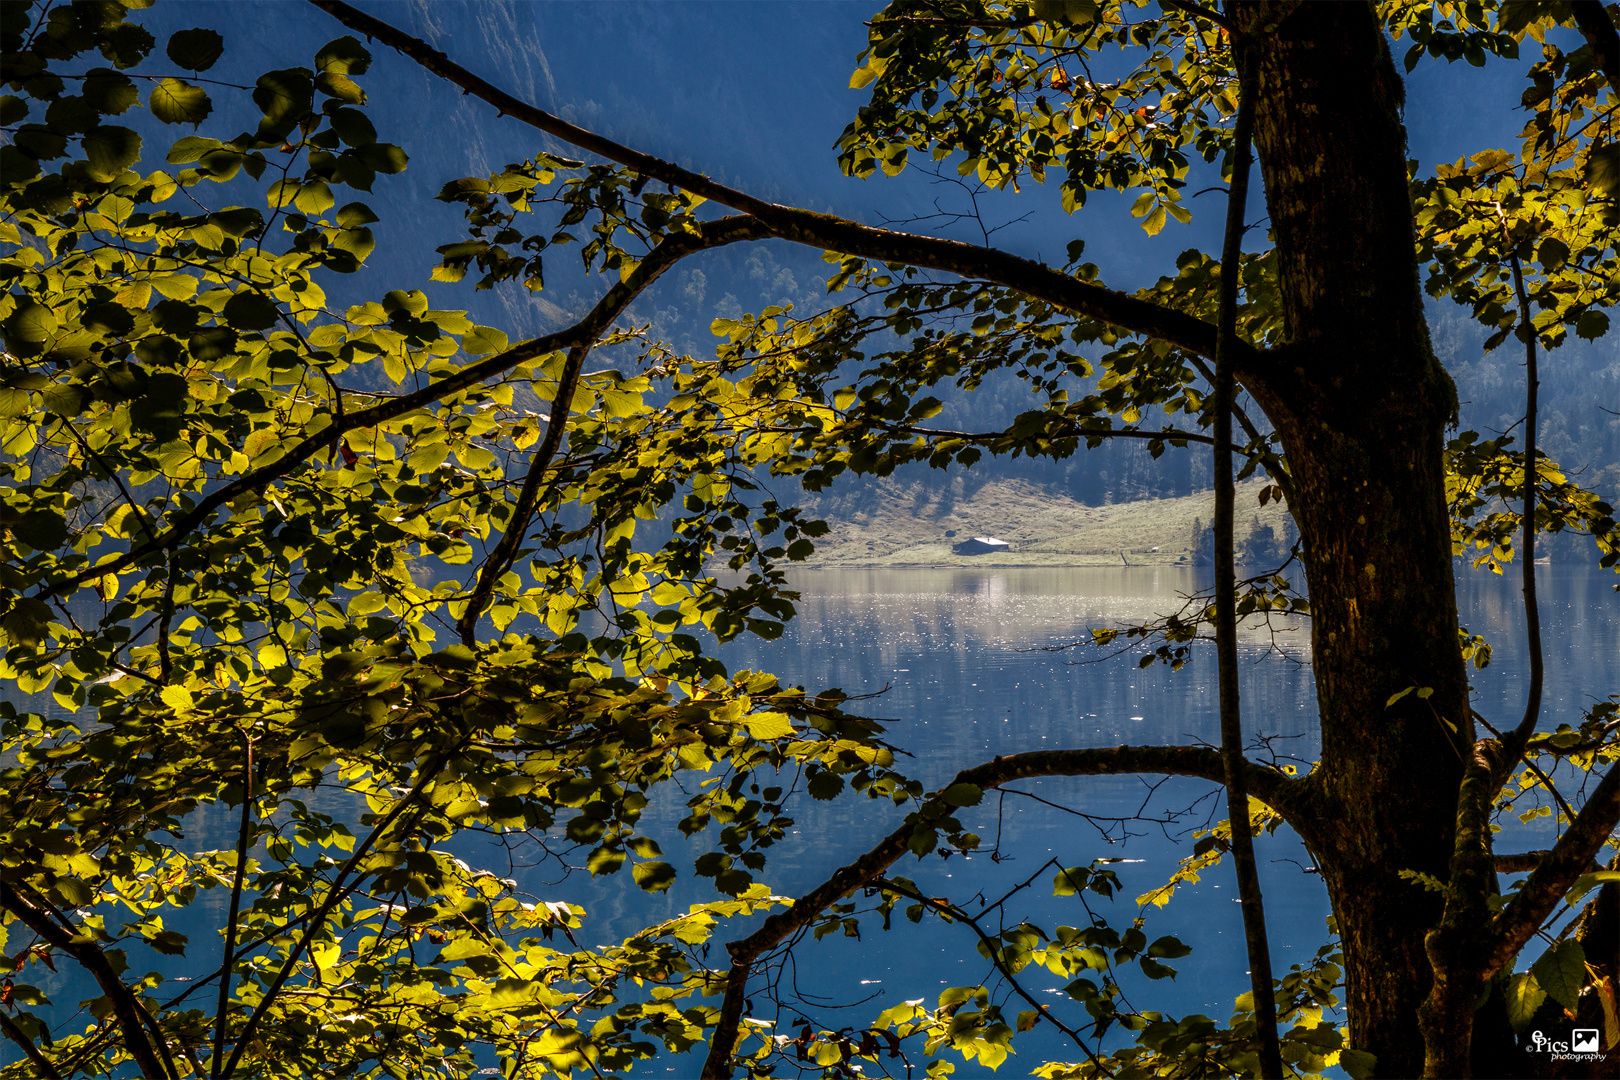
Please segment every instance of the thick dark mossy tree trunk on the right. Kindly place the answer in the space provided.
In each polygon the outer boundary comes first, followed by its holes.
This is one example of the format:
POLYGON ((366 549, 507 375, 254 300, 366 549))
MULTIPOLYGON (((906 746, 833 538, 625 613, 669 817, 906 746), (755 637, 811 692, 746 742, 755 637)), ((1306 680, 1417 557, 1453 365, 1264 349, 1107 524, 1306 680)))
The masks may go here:
MULTIPOLYGON (((1233 5, 1259 26, 1265 6, 1233 5)), ((1286 345, 1244 385, 1283 440, 1304 541, 1322 716, 1315 824, 1343 938, 1351 1043, 1422 1069, 1424 934, 1448 878, 1473 742, 1445 507, 1450 377, 1429 347, 1403 87, 1371 5, 1306 3, 1252 45, 1256 144, 1286 345), (1409 687, 1395 704, 1392 696, 1409 687)))

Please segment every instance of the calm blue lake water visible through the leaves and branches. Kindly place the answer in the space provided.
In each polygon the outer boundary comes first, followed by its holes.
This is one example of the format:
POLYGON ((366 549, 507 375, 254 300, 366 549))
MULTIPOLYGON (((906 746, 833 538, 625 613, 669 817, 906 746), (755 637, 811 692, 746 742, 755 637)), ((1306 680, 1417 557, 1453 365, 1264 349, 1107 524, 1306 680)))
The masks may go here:
MULTIPOLYGON (((1181 672, 1163 665, 1139 669, 1136 654, 1084 662, 1098 657, 1090 646, 1047 651, 1087 638, 1092 627, 1118 627, 1168 612, 1183 594, 1207 585, 1207 573, 1176 568, 802 572, 795 578, 802 593, 800 614, 786 633, 776 641, 734 641, 721 656, 734 670, 771 670, 786 683, 810 690, 841 687, 850 695, 878 695, 852 708, 891 721, 889 740, 910 755, 902 767, 930 787, 998 753, 1215 743, 1212 649, 1200 648, 1181 672)), ((1510 721, 1523 709, 1524 680, 1516 578, 1473 570, 1460 570, 1460 575, 1463 622, 1495 649, 1494 664, 1476 674, 1476 708, 1492 721, 1510 721)), ((1614 693, 1620 682, 1615 576, 1549 567, 1541 570, 1539 581, 1547 653, 1544 724, 1575 724, 1583 704, 1614 693)), ((1267 738, 1270 751, 1280 758, 1306 764, 1319 751, 1315 696, 1311 669, 1304 664, 1309 628, 1280 623, 1275 630, 1249 627, 1243 633, 1246 732, 1249 738, 1267 738)), ((1137 777, 1071 777, 1014 787, 1034 798, 991 795, 980 806, 962 811, 964 824, 983 837, 982 852, 920 863, 907 857, 893 873, 912 878, 925 894, 949 894, 964 904, 975 895, 995 899, 1034 876, 1034 884, 1017 892, 1003 907, 1003 915, 1008 925, 1029 918, 1050 929, 1056 923, 1085 925, 1087 920, 1072 897, 1050 895, 1053 871, 1040 870, 1048 858, 1068 866, 1098 857, 1128 860, 1113 866, 1124 886, 1119 897, 1113 902, 1087 897, 1094 910, 1124 926, 1137 915, 1134 897, 1162 884, 1186 853, 1191 829, 1225 816, 1215 785, 1202 780, 1174 779, 1150 789, 1137 777), (1121 832, 1129 836, 1121 837, 1121 832), (1004 858, 990 858, 998 836, 1004 858)), ((680 837, 672 827, 677 801, 654 801, 646 814, 648 831, 684 871, 667 894, 648 897, 633 887, 629 874, 591 879, 583 871, 565 873, 557 861, 518 873, 520 889, 548 900, 583 904, 588 918, 582 944, 619 941, 651 921, 684 912, 692 902, 716 899, 706 881, 690 876, 690 860, 682 866, 680 837)), ((791 813, 794 829, 773 850, 761 878, 786 894, 813 887, 902 819, 902 811, 886 801, 852 795, 834 801, 800 798, 791 813)), ((211 823, 193 824, 194 840, 214 832, 211 823)), ((1503 850, 1539 847, 1550 836, 1547 819, 1534 826, 1510 821, 1510 826, 1503 850)), ((224 840, 228 831, 219 832, 224 840)), ((214 842, 211 837, 209 845, 214 842)), ((467 853, 478 857, 471 848, 467 853)), ((1309 855, 1286 831, 1259 840, 1259 860, 1273 963, 1281 973, 1290 963, 1309 960, 1327 941, 1328 904, 1309 855)), ((1128 980, 1129 1001, 1142 1009, 1178 1015, 1204 1012, 1225 1020, 1233 997, 1247 989, 1230 866, 1183 886, 1168 908, 1150 910, 1147 920, 1150 939, 1178 934, 1194 952, 1173 962, 1179 970, 1173 981, 1128 980)), ((742 933, 744 928, 723 928, 719 938, 742 933)), ((802 942, 795 963, 779 973, 779 1004, 768 1001, 771 994, 761 994, 750 1015, 778 1018, 779 1031, 787 1031, 800 1017, 834 1030, 863 1027, 876 1012, 901 1001, 923 997, 932 1006, 944 986, 978 980, 995 984, 995 973, 977 954, 967 926, 936 920, 914 926, 896 918, 894 929, 885 934, 878 920, 868 918, 862 933, 859 942, 842 936, 802 942)), ((199 959, 212 947, 202 938, 193 942, 199 959)), ((716 944, 711 963, 721 960, 716 944)), ((180 973, 183 965, 154 957, 149 967, 180 973)), ((1030 970, 1027 983, 1071 1023, 1084 1022, 1084 1010, 1061 994, 1061 980, 1030 970)), ((78 997, 89 996, 87 988, 75 993, 79 980, 66 972, 42 989, 57 999, 60 1015, 71 1012, 78 997)), ((1017 1001, 1008 1004, 1009 1012, 1022 1007, 1017 1001)), ((1042 1059, 1077 1057, 1061 1036, 1047 1031, 1042 1027, 1019 1036, 1021 1054, 1003 1072, 1019 1075, 1042 1059)), ((953 1061, 957 1075, 977 1075, 975 1065, 953 1061)), ((642 1072, 692 1075, 697 1065, 697 1057, 680 1057, 654 1062, 642 1072)))

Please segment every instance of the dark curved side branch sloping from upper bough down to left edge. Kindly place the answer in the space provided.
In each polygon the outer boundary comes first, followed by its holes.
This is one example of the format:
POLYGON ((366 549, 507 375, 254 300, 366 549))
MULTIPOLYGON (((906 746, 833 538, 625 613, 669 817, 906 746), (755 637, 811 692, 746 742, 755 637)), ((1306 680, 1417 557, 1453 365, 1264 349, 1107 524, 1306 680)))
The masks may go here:
POLYGON ((413 393, 402 393, 400 397, 389 398, 379 405, 373 405, 371 408, 360 410, 358 413, 348 413, 342 418, 327 416, 326 427, 305 436, 303 440, 300 440, 277 461, 238 476, 228 484, 215 487, 204 499, 198 500, 196 507, 193 507, 190 513, 181 517, 173 526, 164 529, 164 533, 157 538, 138 547, 131 547, 115 559, 99 562, 89 570, 62 578, 55 585, 42 586, 39 589, 39 597, 47 599, 58 596, 84 585, 86 581, 94 581, 96 578, 107 576, 109 573, 117 573, 125 567, 139 562, 154 551, 175 544, 181 536, 198 528, 209 518, 209 515, 232 499, 253 491, 261 491, 269 483, 292 473, 345 432, 358 427, 376 427, 377 424, 421 408, 423 405, 437 402, 442 397, 449 397, 450 393, 476 385, 484 379, 499 376, 501 372, 509 371, 523 361, 535 359, 536 356, 554 353, 559 348, 572 348, 582 342, 595 342, 609 325, 612 325, 612 321, 624 313, 630 301, 635 300, 637 293, 654 282, 679 259, 706 248, 718 248, 739 240, 758 240, 765 235, 768 235, 768 230, 761 228, 753 219, 723 217, 716 222, 705 222, 697 233, 669 236, 653 248, 653 251, 642 261, 629 279, 608 290, 608 295, 596 301, 596 306, 591 308, 590 314, 575 322, 572 327, 557 330, 556 334, 546 334, 544 337, 536 337, 530 342, 523 342, 522 345, 515 345, 504 353, 496 353, 494 356, 481 359, 475 364, 467 364, 455 374, 446 376, 437 382, 431 382, 413 393))

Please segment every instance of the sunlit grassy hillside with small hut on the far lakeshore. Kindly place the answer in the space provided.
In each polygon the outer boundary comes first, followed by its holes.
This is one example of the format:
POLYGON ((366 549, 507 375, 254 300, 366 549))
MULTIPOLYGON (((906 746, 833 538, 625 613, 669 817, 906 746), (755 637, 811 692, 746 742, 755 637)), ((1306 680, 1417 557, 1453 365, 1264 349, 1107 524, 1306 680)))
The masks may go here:
MULTIPOLYGON (((1262 483, 1238 487, 1239 552, 1256 528, 1285 536, 1285 510, 1259 505, 1262 483)), ((833 526, 807 567, 1103 567, 1186 565, 1196 526, 1215 515, 1212 492, 1087 507, 1022 479, 993 479, 967 491, 961 478, 943 491, 880 481, 860 494, 813 507, 833 526), (1008 552, 959 555, 974 536, 1008 541, 1008 552), (1157 551, 1153 551, 1157 549, 1157 551)))

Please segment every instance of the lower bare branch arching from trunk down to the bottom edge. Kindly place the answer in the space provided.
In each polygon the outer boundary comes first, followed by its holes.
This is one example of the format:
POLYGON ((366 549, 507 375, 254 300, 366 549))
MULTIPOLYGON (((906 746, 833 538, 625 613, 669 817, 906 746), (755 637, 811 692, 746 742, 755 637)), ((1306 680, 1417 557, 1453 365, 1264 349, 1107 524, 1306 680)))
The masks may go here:
MULTIPOLYGON (((1221 755, 1209 746, 1106 746, 1098 750, 1035 750, 996 758, 972 769, 962 769, 953 784, 974 784, 988 790, 1030 777, 1131 772, 1194 776, 1217 784, 1225 782, 1221 755)), ((1254 763, 1246 766, 1244 779, 1249 790, 1281 813, 1285 819, 1299 813, 1301 795, 1309 784, 1309 780, 1296 780, 1254 763)), ((831 878, 799 897, 786 912, 766 918, 755 933, 742 941, 726 944, 726 950, 731 954, 731 972, 726 976, 726 996, 721 1002, 719 1020, 710 1036, 703 1080, 723 1080, 731 1075, 731 1052, 737 1044, 737 1028, 747 1002, 748 975, 755 960, 808 926, 839 897, 881 878, 909 850, 907 845, 917 829, 933 827, 933 823, 949 813, 951 806, 940 795, 930 797, 906 819, 906 824, 880 840, 865 855, 834 871, 831 878)))

